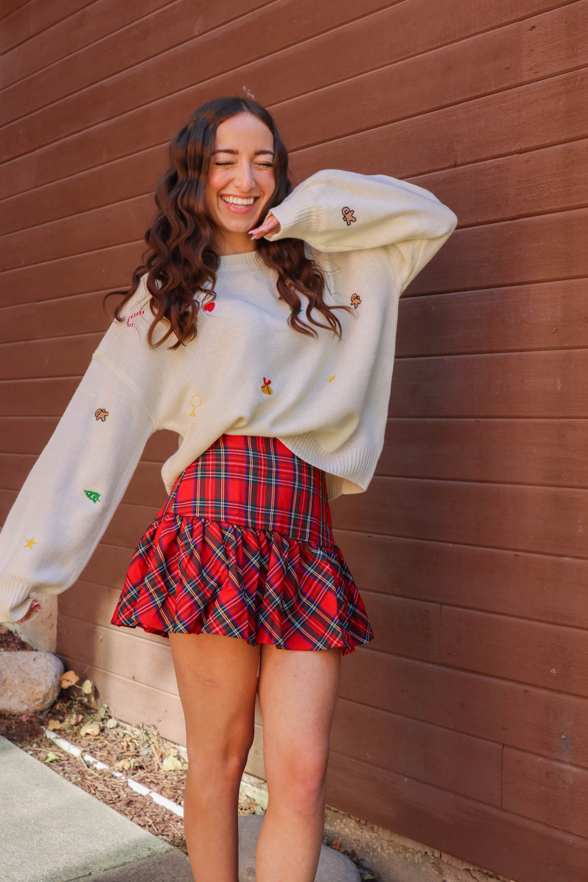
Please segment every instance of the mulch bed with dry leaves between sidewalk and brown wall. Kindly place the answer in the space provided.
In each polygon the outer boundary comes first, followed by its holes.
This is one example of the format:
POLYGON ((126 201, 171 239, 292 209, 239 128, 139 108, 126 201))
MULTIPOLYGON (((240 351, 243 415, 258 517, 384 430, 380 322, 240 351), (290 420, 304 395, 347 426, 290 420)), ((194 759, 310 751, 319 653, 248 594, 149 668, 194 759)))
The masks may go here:
MULTIPOLYGON (((0 652, 32 651, 32 648, 9 628, 0 625, 0 652)), ((183 805, 188 767, 185 754, 178 745, 160 736, 156 728, 138 728, 112 717, 108 705, 100 700, 91 681, 86 680, 85 684, 78 681, 62 689, 55 704, 47 710, 0 716, 0 735, 135 824, 188 853, 182 818, 154 803, 151 796, 141 796, 131 790, 124 779, 116 778, 111 772, 111 769, 123 772, 161 796, 183 805), (85 727, 92 726, 91 732, 95 734, 82 734, 85 727), (62 736, 110 768, 96 769, 73 757, 48 738, 44 729, 53 729, 57 736, 62 736)), ((263 813, 263 808, 243 797, 239 800, 238 811, 240 815, 256 814, 263 813)), ((325 836, 323 841, 358 865, 362 882, 376 878, 364 861, 358 861, 353 850, 349 852, 341 848, 339 840, 329 842, 325 836)))

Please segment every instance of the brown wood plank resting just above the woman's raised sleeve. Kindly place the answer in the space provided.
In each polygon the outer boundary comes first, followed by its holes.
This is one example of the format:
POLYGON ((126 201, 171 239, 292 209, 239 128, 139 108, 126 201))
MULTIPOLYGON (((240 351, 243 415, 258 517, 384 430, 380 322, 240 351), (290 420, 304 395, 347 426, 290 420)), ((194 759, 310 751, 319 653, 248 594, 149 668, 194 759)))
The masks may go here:
POLYGON ((292 151, 294 176, 304 180, 319 168, 349 168, 372 175, 391 168, 388 174, 410 177, 586 138, 587 84, 588 71, 571 71, 422 116, 328 138, 292 151), (500 120, 500 124, 488 125, 488 120, 500 120))

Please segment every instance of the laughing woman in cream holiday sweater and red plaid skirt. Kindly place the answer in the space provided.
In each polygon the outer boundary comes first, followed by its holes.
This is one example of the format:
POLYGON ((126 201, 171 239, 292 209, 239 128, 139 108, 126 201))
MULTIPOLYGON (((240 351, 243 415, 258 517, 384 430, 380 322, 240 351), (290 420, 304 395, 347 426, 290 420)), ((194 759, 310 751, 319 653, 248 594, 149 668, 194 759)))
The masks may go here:
POLYGON ((237 880, 257 692, 257 879, 311 882, 341 655, 374 636, 329 500, 374 474, 398 298, 457 218, 389 176, 328 169, 292 190, 272 116, 244 98, 197 109, 155 199, 144 263, 0 534, 0 617, 71 586, 147 438, 177 432, 111 623, 170 642, 196 882, 237 880))

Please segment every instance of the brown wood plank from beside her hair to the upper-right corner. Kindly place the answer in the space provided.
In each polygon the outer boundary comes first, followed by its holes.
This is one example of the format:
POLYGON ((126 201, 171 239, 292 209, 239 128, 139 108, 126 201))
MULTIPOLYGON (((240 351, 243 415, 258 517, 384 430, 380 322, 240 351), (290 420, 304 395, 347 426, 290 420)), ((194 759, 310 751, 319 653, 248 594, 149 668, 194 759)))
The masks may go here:
POLYGON ((275 106, 272 99, 272 111, 295 150, 555 77, 588 61, 584 41, 566 39, 570 19, 581 28, 586 14, 583 3, 575 4, 572 15, 566 7, 548 11, 290 101, 278 99, 275 106), (517 64, 510 63, 514 57, 517 64))

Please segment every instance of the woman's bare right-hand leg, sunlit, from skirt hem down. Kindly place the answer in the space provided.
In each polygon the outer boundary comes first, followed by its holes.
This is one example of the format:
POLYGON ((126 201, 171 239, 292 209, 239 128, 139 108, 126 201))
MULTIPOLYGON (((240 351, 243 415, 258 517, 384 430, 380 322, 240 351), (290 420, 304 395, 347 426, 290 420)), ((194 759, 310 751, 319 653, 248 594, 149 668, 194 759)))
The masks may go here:
POLYGON ((268 805, 257 840, 257 882, 314 882, 341 651, 262 644, 261 653, 268 805))

